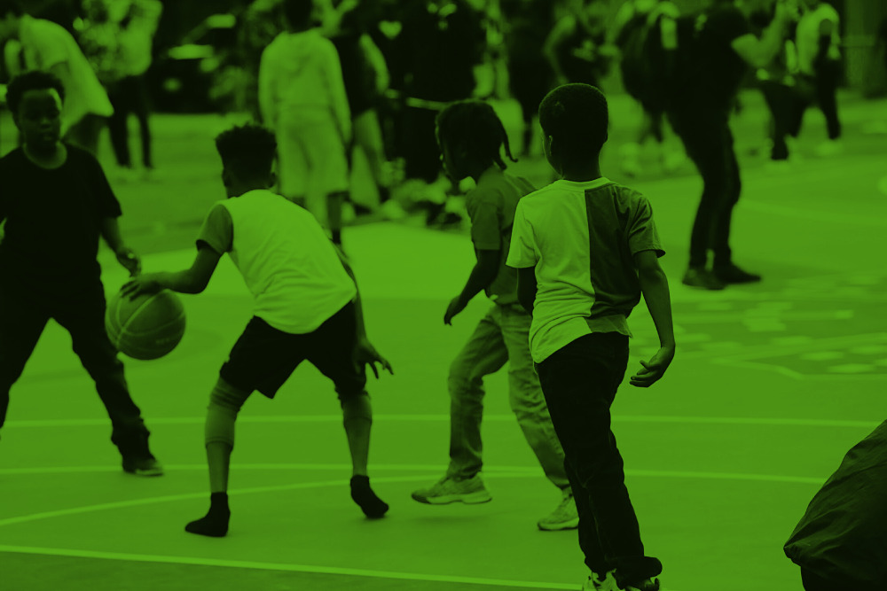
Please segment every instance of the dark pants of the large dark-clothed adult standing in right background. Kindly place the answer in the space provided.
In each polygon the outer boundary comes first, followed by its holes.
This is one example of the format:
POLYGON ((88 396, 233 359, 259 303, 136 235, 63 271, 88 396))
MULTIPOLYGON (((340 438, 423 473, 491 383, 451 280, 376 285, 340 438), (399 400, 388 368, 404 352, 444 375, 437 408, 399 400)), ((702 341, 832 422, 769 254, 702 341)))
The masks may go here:
POLYGON ((685 108, 669 112, 668 118, 703 177, 703 196, 690 235, 690 266, 704 267, 709 250, 714 251, 715 266, 729 265, 730 222, 742 191, 729 113, 685 108))

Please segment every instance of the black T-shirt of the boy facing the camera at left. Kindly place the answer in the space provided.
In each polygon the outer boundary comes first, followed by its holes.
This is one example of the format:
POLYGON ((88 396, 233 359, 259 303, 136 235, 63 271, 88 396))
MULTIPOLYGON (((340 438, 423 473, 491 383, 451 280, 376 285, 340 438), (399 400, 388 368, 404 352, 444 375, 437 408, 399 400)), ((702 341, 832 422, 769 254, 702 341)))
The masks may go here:
POLYGON ((121 215, 98 160, 70 144, 61 167, 46 169, 21 148, 0 158, 0 280, 65 284, 98 280, 101 221, 121 215))

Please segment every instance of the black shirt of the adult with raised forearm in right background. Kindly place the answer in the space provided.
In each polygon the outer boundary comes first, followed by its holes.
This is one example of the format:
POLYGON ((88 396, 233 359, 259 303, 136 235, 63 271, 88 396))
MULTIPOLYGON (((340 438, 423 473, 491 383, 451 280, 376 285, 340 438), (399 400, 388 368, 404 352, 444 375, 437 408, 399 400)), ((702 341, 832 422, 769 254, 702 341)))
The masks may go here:
POLYGON ((731 43, 751 33, 745 15, 733 4, 715 4, 678 19, 678 43, 688 55, 682 60, 677 108, 728 112, 739 93, 748 65, 731 43))

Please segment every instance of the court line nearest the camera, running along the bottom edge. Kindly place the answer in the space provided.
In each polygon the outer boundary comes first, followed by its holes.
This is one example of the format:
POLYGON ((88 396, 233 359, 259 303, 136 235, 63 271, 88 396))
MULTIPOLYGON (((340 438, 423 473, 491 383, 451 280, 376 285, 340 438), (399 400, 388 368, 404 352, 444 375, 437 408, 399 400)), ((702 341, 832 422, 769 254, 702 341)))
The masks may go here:
MULTIPOLYGON (((576 589, 577 584, 544 583, 540 581, 520 581, 506 579, 482 579, 457 577, 453 575, 425 574, 420 572, 370 571, 314 564, 258 563, 243 560, 221 560, 216 558, 192 558, 182 556, 159 556, 152 554, 127 554, 123 552, 98 552, 92 550, 69 550, 67 548, 35 548, 31 546, 0 545, 0 552, 37 554, 52 556, 74 556, 78 558, 99 558, 106 560, 130 560, 144 563, 196 564, 200 566, 224 566, 229 568, 256 569, 264 571, 311 572, 317 574, 347 575, 353 577, 373 577, 378 579, 424 580, 436 583, 466 583, 498 587, 529 589, 576 589)), ((676 591, 676 590, 672 590, 676 591)))

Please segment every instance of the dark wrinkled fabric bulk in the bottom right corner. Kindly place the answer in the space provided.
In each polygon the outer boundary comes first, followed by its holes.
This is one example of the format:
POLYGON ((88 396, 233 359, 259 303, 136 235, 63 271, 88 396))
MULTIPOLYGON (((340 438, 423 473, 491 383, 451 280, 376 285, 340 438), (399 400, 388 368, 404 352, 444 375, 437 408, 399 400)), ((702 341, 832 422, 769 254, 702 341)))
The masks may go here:
POLYGON ((887 421, 847 452, 783 551, 806 591, 887 588, 887 421))

